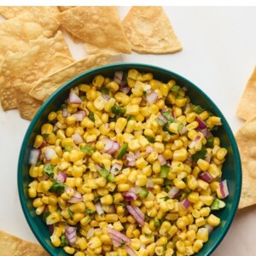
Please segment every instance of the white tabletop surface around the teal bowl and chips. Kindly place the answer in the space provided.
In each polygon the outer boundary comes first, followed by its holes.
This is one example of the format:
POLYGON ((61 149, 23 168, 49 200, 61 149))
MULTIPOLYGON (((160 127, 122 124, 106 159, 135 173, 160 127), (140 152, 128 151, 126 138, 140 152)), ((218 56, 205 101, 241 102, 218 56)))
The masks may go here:
MULTIPOLYGON (((121 17, 128 9, 119 8, 121 17)), ((212 98, 236 133, 242 124, 236 108, 256 62, 256 7, 165 7, 165 11, 183 50, 172 55, 133 52, 123 60, 165 67, 189 79, 212 98)), ((75 59, 84 56, 81 45, 70 40, 68 44, 75 59)), ((0 108, 0 230, 36 241, 21 211, 16 181, 28 125, 17 110, 4 113, 0 108)), ((255 214, 256 207, 239 211, 212 255, 256 255, 255 214)))

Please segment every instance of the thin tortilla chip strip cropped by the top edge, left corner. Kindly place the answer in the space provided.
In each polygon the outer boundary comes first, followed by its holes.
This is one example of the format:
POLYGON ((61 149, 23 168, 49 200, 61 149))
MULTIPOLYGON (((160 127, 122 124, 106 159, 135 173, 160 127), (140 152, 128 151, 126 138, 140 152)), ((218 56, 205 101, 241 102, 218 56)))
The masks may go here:
POLYGON ((37 9, 41 15, 56 15, 60 12, 56 6, 0 6, 0 15, 5 19, 13 19, 34 13, 37 9))

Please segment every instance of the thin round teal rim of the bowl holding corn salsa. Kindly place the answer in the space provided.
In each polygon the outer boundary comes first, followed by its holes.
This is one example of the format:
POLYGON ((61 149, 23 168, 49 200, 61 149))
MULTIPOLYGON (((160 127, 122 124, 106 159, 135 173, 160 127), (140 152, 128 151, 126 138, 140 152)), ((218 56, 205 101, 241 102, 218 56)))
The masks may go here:
MULTIPOLYGON (((220 242, 223 241, 224 236, 226 235, 226 233, 230 229, 230 225, 232 224, 232 222, 233 222, 233 220, 236 216, 236 211, 237 211, 239 200, 240 200, 241 178, 242 178, 242 176, 241 176, 241 159, 240 159, 239 150, 238 150, 238 147, 237 147, 237 144, 236 144, 236 139, 233 135, 233 132, 230 129, 230 125, 228 124, 227 120, 224 118, 224 114, 221 113, 221 111, 219 110, 217 105, 214 102, 212 102, 212 99, 209 96, 207 96, 207 94, 203 90, 201 90, 201 88, 199 88, 197 85, 190 82, 188 79, 185 79, 183 76, 172 72, 171 70, 168 70, 168 69, 163 68, 163 67, 157 67, 157 66, 154 66, 154 65, 148 65, 148 64, 143 64, 143 63, 136 63, 136 62, 125 62, 124 63, 124 62, 120 62, 120 63, 104 65, 104 66, 101 66, 101 67, 96 67, 96 68, 90 69, 89 71, 86 71, 84 73, 80 73, 78 76, 74 77, 73 79, 70 79, 65 84, 61 85, 60 88, 55 90, 55 92, 51 96, 49 96, 49 98, 43 103, 41 108, 38 109, 38 112, 36 113, 36 115, 34 116, 30 125, 28 126, 28 128, 26 130, 26 135, 25 135, 25 137, 22 141, 21 147, 20 147, 20 155, 19 155, 19 160, 18 160, 18 170, 17 170, 17 172, 18 172, 17 173, 18 193, 19 193, 19 198, 20 198, 20 205, 21 205, 22 211, 25 215, 26 222, 28 223, 30 229, 32 230, 33 235, 36 236, 37 240, 41 243, 41 245, 43 245, 44 249, 48 253, 52 253, 51 248, 48 246, 46 241, 44 241, 43 237, 40 236, 34 228, 35 224, 32 220, 32 216, 30 214, 30 211, 29 211, 29 209, 26 205, 26 198, 25 198, 25 195, 23 193, 23 185, 22 185, 22 179, 23 179, 23 177, 22 177, 22 168, 23 168, 22 160, 24 160, 24 156, 25 156, 26 143, 27 143, 30 135, 32 134, 32 130, 33 130, 34 126, 37 124, 38 119, 40 118, 42 113, 44 113, 45 108, 47 108, 47 106, 55 99, 55 97, 59 93, 61 93, 62 90, 65 90, 67 87, 71 88, 72 84, 74 84, 77 80, 83 79, 84 77, 86 77, 90 74, 93 74, 93 73, 101 73, 104 70, 108 70, 108 69, 113 69, 114 70, 114 69, 118 69, 118 68, 141 68, 141 69, 143 69, 143 68, 147 69, 148 68, 148 69, 156 70, 157 72, 160 72, 160 73, 166 73, 166 74, 171 75, 171 76, 173 76, 177 79, 180 79, 185 84, 189 84, 189 86, 194 87, 195 90, 197 90, 199 93, 201 93, 201 95, 206 98, 207 102, 209 102, 212 105, 212 108, 214 108, 214 111, 217 113, 217 115, 222 120, 224 130, 226 131, 228 137, 230 138, 230 145, 231 145, 231 148, 233 149, 233 152, 234 152, 235 165, 237 166, 237 170, 239 170, 239 172, 237 172, 237 179, 236 179, 237 183, 236 183, 236 190, 235 190, 237 196, 235 198, 235 201, 233 201, 233 203, 232 203, 231 214, 226 219, 224 229, 222 230, 221 234, 212 243, 212 246, 209 248, 209 250, 207 251, 207 254, 205 254, 204 256, 211 255, 211 253, 218 247, 220 242)), ((195 253, 195 255, 200 255, 200 252, 195 253)))

